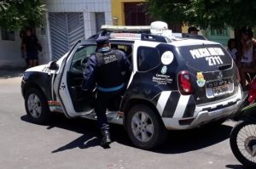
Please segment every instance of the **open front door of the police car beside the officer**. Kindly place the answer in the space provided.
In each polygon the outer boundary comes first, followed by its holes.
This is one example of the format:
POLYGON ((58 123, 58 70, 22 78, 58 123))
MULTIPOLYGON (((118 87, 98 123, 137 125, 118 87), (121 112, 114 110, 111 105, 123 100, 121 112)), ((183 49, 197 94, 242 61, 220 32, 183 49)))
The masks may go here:
POLYGON ((96 42, 78 42, 64 60, 55 79, 55 94, 67 117, 88 115, 93 111, 95 93, 82 90, 84 66, 96 51, 96 42))

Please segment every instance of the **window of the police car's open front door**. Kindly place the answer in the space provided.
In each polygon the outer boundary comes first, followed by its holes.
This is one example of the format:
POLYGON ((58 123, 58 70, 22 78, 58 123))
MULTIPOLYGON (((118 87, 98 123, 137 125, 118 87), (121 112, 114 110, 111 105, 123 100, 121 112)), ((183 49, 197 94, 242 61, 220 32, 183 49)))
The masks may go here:
POLYGON ((94 54, 96 51, 96 45, 87 45, 80 46, 75 54, 73 54, 73 59, 70 67, 72 72, 83 72, 82 64, 85 64, 90 58, 91 54, 94 54))

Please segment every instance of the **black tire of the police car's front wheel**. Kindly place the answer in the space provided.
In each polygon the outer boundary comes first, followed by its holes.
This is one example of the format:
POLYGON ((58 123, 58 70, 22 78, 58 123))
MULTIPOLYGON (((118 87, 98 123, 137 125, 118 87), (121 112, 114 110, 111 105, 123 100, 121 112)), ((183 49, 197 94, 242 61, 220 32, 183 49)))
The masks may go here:
POLYGON ((49 121, 50 112, 49 112, 48 102, 45 99, 44 94, 37 88, 31 88, 26 91, 25 107, 26 107, 26 114, 28 115, 29 120, 32 121, 33 123, 45 124, 47 121, 49 121), (32 103, 31 102, 32 98, 34 98, 34 102, 33 104, 30 104, 32 103))

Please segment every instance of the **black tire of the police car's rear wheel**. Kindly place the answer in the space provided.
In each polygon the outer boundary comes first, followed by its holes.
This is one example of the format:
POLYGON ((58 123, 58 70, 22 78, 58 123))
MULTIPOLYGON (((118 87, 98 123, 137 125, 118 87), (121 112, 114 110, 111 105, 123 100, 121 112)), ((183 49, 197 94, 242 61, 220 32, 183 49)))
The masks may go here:
MULTIPOLYGON (((152 149, 154 147, 159 146, 160 144, 163 144, 166 141, 166 136, 167 136, 167 130, 166 127, 164 127, 163 122, 160 120, 159 115, 156 115, 157 112, 152 110, 150 107, 144 104, 138 104, 129 110, 126 121, 125 121, 125 126, 128 132, 128 135, 131 139, 131 142, 135 144, 138 148, 140 149, 152 149), (143 113, 143 115, 148 116, 148 121, 145 121, 143 123, 143 120, 140 122, 141 126, 135 124, 133 122, 133 118, 139 118, 140 113, 143 113), (147 123, 147 125, 146 125, 147 123), (152 126, 151 126, 152 124, 152 126), (145 126, 143 126, 145 125, 145 126), (150 127, 149 127, 150 126, 150 127), (146 129, 148 128, 148 129, 146 129), (152 130, 151 132, 148 132, 147 130, 150 130, 150 128, 153 128, 153 133, 152 130), (136 134, 133 132, 133 130, 139 130, 141 132, 141 136, 139 134, 136 136, 136 134), (146 134, 148 137, 147 139, 143 139, 143 133, 146 134), (141 137, 141 138, 140 138, 141 137), (141 140, 140 140, 141 139, 141 140)), ((143 117, 141 116, 141 119, 143 117)), ((137 122, 139 123, 139 122, 137 122)), ((144 135, 145 136, 145 135, 144 135)))

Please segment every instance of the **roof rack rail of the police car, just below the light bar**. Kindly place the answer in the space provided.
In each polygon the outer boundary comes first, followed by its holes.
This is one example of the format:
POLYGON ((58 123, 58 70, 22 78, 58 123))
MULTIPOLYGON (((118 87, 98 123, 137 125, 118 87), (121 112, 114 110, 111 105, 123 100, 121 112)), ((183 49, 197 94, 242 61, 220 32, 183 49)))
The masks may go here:
POLYGON ((172 42, 168 37, 146 33, 110 33, 109 37, 113 39, 133 39, 149 42, 172 42))

